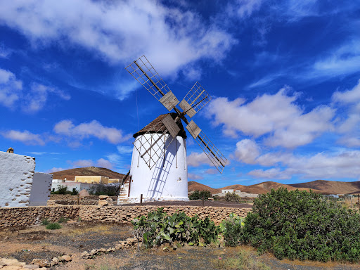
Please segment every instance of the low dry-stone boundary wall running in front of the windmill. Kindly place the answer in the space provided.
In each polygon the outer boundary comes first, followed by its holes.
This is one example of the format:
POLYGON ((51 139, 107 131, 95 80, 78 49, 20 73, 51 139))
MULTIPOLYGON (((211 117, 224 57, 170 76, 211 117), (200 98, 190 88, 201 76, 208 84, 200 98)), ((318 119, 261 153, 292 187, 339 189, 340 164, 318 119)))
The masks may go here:
MULTIPOLYGON (((129 224, 135 217, 155 211, 158 206, 98 206, 98 205, 66 205, 66 206, 37 206, 37 207, 8 207, 0 208, 0 229, 9 227, 23 227, 40 224, 42 219, 58 221, 60 217, 81 219, 82 221, 114 222, 129 224)), ((200 219, 210 217, 215 224, 235 213, 239 217, 246 217, 249 208, 231 207, 198 207, 172 205, 164 207, 164 211, 173 214, 184 211, 188 216, 198 214, 200 219)))

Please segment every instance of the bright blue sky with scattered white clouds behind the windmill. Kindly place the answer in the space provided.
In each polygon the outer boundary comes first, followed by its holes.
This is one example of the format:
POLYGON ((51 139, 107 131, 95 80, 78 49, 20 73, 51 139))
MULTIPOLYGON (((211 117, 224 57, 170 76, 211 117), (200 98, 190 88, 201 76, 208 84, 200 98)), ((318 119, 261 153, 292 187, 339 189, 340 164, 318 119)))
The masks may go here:
POLYGON ((189 180, 360 180, 360 1, 0 0, 0 149, 37 171, 126 173, 132 134, 167 110, 124 68, 146 55, 228 158, 188 139, 189 180))

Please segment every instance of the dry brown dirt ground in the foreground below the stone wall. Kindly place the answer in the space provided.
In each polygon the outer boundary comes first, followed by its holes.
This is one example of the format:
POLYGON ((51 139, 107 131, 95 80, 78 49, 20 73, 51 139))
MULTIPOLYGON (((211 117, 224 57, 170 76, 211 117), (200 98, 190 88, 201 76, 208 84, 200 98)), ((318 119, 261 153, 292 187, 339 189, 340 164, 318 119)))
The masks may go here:
POLYGON ((58 230, 46 230, 45 226, 32 226, 20 231, 0 231, 0 257, 15 258, 31 263, 32 259, 48 259, 69 254, 72 262, 50 269, 122 270, 122 269, 217 269, 217 260, 236 257, 243 250, 250 250, 255 259, 270 269, 291 270, 347 270, 359 269, 357 264, 279 261, 271 255, 257 256, 252 248, 207 248, 183 246, 177 250, 163 248, 150 250, 116 250, 99 255, 96 259, 82 259, 81 253, 94 248, 113 248, 120 240, 133 237, 131 226, 71 222, 58 230))

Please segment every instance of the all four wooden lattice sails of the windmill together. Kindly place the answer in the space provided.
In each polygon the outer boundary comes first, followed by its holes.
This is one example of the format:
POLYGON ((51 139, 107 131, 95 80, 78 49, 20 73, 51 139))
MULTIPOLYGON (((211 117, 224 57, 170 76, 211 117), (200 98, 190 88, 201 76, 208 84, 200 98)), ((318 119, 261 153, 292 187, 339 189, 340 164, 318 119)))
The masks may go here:
MULTIPOLYGON (((156 72, 153 65, 150 64, 145 56, 141 56, 141 58, 128 65, 126 70, 142 86, 144 86, 150 94, 158 99, 158 101, 160 101, 167 110, 170 111, 174 109, 176 111, 176 114, 174 115, 176 115, 177 120, 175 120, 174 117, 170 117, 172 120, 169 117, 162 119, 160 124, 155 124, 155 127, 143 132, 143 134, 148 134, 147 136, 141 136, 141 138, 145 138, 141 139, 143 141, 136 139, 134 142, 136 150, 139 151, 141 158, 145 160, 148 167, 152 168, 158 160, 165 155, 167 146, 169 146, 169 143, 176 138, 176 133, 179 133, 179 127, 177 126, 181 125, 181 121, 179 120, 181 119, 188 124, 186 129, 188 129, 200 148, 203 149, 212 164, 219 170, 220 173, 222 173, 227 162, 226 158, 221 154, 219 149, 214 146, 214 143, 207 138, 203 131, 201 131, 198 125, 193 122, 193 120, 188 122, 186 119, 186 115, 193 117, 212 99, 203 86, 201 86, 199 82, 196 82, 179 104, 179 100, 172 93, 167 84, 165 84, 158 72, 156 72), (176 107, 178 104, 183 112, 176 107), (178 120, 179 123, 176 122, 178 120), (167 140, 171 141, 167 142, 167 140)), ((186 136, 184 138, 186 138, 186 136)))

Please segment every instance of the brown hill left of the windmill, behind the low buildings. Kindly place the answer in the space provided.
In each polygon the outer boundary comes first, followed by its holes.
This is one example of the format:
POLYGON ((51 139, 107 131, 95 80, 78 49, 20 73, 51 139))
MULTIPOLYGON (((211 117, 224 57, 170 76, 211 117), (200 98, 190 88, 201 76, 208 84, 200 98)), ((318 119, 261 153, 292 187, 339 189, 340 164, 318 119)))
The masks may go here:
POLYGON ((98 167, 84 167, 84 168, 75 168, 75 169, 65 169, 60 172, 51 172, 53 174, 53 179, 67 179, 70 181, 75 180, 75 176, 77 175, 99 175, 99 176, 108 176, 109 178, 120 178, 124 176, 124 174, 120 174, 118 172, 113 172, 110 169, 106 168, 98 168, 98 167))

